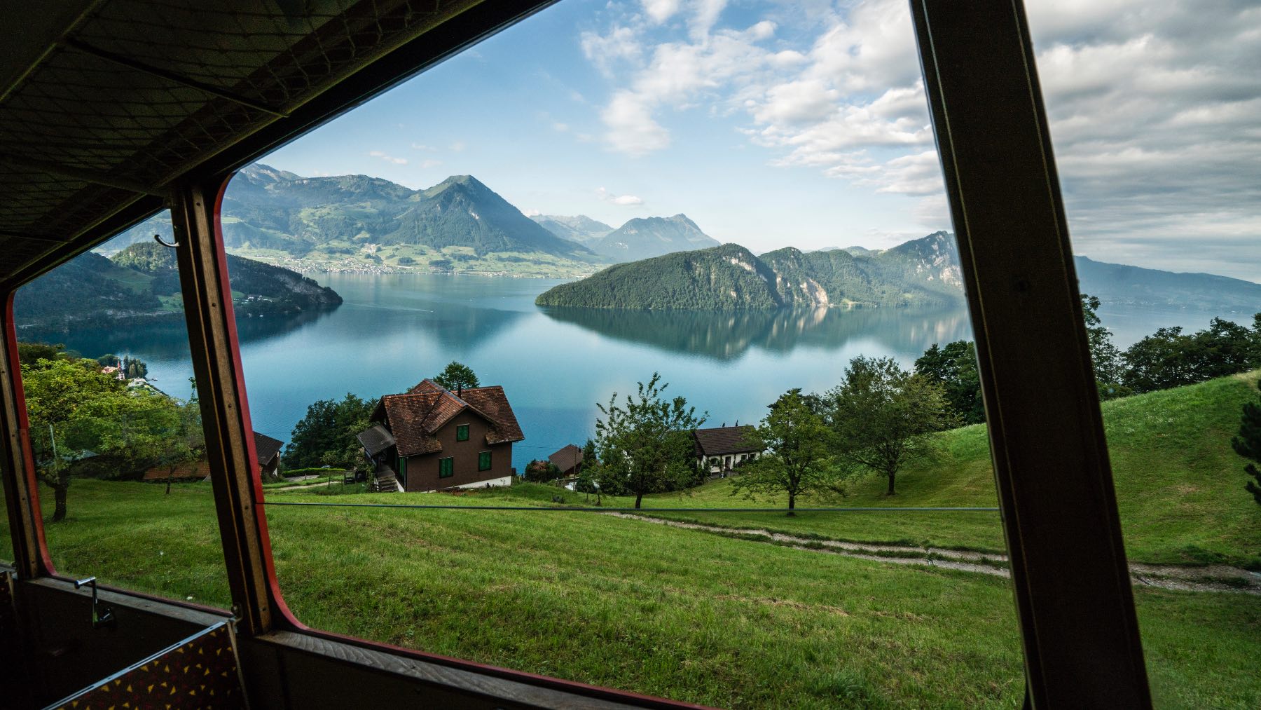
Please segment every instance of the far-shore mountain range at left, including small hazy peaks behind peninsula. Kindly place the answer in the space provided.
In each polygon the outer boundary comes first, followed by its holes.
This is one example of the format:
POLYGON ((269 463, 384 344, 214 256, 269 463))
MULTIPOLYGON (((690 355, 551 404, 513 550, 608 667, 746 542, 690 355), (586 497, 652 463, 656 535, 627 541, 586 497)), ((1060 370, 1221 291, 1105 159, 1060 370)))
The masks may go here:
MULTIPOLYGON (((531 219, 472 175, 414 190, 367 175, 305 178, 262 164, 233 178, 222 224, 230 252, 311 270, 584 275, 719 243, 682 214, 618 228, 585 216, 531 219)), ((105 250, 169 232, 169 218, 159 216, 105 250)))

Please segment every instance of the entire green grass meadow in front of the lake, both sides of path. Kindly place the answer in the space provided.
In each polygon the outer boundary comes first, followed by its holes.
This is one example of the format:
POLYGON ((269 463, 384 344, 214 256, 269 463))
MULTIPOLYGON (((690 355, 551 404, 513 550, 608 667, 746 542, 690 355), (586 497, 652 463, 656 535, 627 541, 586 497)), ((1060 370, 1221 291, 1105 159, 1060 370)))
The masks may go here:
MULTIPOLYGON (((1240 564, 1261 507, 1229 451, 1251 381, 1105 405, 1130 555, 1240 564)), ((846 506, 994 504, 984 430, 947 433, 936 469, 854 486, 846 506)), ((760 506, 718 482, 656 507, 760 506)), ((227 605, 206 484, 76 480, 48 525, 59 569, 227 605)), ((552 506, 556 489, 275 493, 275 502, 552 506)), ((50 496, 44 497, 50 515, 50 496)), ((584 496, 566 493, 570 506, 584 496)), ((605 499, 605 504, 625 501, 605 499)), ((665 513, 660 513, 665 515, 665 513)), ((731 526, 1001 551, 994 513, 689 512, 731 526)), ((47 520, 47 517, 45 517, 47 520)), ((267 507, 277 576, 303 622, 565 678, 733 707, 1014 707, 1023 694, 1008 583, 574 511, 267 507)), ((1257 707, 1261 598, 1136 588, 1165 707, 1257 707)))

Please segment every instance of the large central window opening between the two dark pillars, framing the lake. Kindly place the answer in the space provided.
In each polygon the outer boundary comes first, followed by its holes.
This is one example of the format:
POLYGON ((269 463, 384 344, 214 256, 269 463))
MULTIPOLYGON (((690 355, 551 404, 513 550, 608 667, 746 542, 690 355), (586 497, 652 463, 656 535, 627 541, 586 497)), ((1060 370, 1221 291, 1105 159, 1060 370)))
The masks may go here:
POLYGON ((660 5, 560 3, 228 187, 228 251, 325 294, 288 315, 237 299, 238 327, 267 333, 241 349, 251 416, 286 467, 367 478, 266 488, 289 608, 716 706, 1018 705, 905 3, 660 5), (787 493, 736 486, 773 473, 741 459, 768 405, 861 420, 861 367, 933 402, 893 496, 850 459, 818 467, 793 516, 787 493), (667 410, 683 397, 705 421, 598 431, 654 372, 667 410), (830 392, 850 380, 842 411, 830 392), (639 434, 666 451, 642 486, 639 434), (289 504, 327 496, 467 509, 289 504))

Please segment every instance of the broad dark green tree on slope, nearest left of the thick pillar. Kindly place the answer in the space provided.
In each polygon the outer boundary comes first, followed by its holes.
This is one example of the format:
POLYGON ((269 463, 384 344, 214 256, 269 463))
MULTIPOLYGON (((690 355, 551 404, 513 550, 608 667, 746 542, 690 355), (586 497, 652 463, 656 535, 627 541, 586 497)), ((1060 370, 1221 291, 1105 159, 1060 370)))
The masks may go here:
POLYGON ((851 359, 845 382, 827 395, 837 457, 888 478, 889 496, 898 472, 933 451, 929 435, 956 422, 942 386, 893 358, 851 359))

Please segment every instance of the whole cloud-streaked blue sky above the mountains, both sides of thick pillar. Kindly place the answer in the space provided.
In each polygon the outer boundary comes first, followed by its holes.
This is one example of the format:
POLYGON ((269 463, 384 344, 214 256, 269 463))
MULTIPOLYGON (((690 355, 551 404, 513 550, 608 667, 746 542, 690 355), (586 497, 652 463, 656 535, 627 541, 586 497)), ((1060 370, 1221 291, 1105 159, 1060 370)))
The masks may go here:
MULTIPOLYGON (((1261 281, 1261 10, 1213 5, 1029 3, 1078 253, 1261 281)), ((265 161, 754 251, 950 228, 905 0, 565 0, 265 161)))

